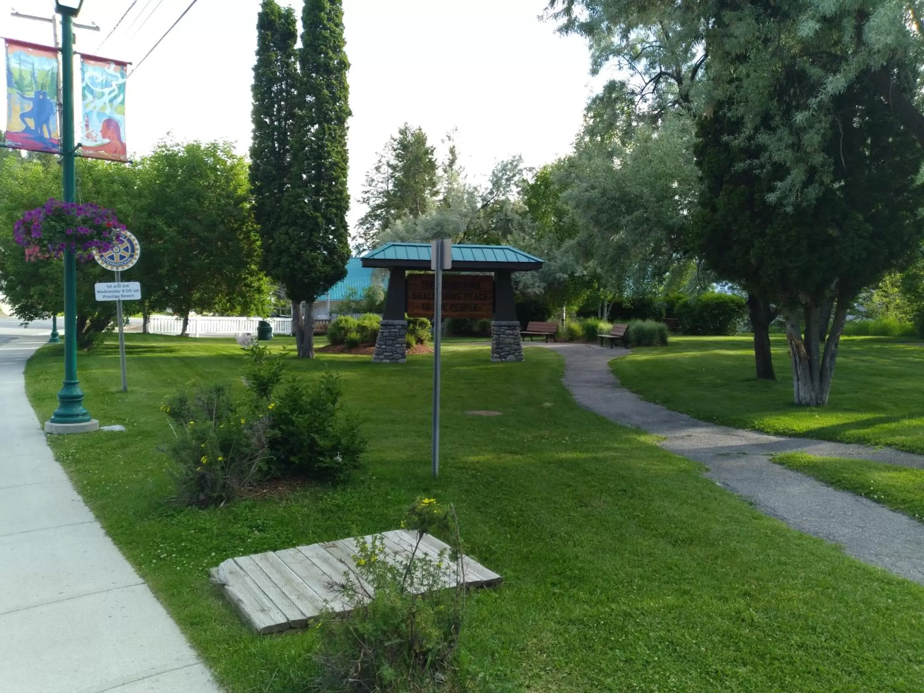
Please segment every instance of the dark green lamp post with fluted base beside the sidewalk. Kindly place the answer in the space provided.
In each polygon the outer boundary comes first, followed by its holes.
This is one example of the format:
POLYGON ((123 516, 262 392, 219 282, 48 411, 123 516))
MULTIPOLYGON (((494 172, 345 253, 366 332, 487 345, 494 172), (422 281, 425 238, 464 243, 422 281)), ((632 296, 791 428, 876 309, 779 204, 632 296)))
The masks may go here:
MULTIPOLYGON (((61 158, 64 168, 64 201, 74 201, 76 145, 74 143, 74 18, 83 0, 55 0, 61 15, 61 158)), ((58 393, 58 407, 45 422, 48 433, 96 431, 99 421, 83 407, 83 392, 77 379, 77 255, 64 254, 64 384, 58 393)))

